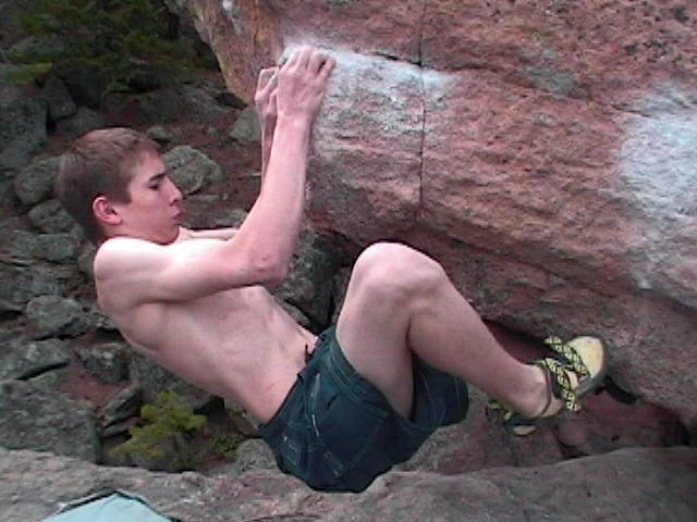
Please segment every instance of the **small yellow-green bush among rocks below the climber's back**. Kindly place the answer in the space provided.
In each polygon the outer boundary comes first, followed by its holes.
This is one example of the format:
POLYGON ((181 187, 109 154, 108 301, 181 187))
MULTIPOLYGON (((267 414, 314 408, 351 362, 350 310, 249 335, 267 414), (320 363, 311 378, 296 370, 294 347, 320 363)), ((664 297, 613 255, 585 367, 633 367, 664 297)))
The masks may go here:
POLYGON ((131 438, 117 446, 118 456, 129 456, 146 468, 167 471, 192 470, 196 465, 194 436, 206 418, 175 391, 160 391, 155 402, 140 408, 140 426, 129 428, 131 438))

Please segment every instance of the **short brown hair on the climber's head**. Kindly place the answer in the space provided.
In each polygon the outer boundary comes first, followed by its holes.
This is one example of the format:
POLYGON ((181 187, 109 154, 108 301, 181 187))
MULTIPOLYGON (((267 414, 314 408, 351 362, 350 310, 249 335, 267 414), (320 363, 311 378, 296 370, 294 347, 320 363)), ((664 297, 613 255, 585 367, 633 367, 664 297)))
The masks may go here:
POLYGON ((91 243, 106 239, 93 212, 95 198, 130 202, 127 186, 133 166, 148 152, 159 153, 159 145, 137 130, 112 127, 77 138, 61 157, 56 196, 91 243))

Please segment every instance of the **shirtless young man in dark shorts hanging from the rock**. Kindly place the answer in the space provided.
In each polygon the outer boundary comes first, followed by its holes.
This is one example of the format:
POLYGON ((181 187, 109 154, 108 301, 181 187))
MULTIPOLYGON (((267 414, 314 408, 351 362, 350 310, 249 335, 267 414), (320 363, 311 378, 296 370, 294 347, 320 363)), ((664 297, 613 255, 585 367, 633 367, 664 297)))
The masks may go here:
POLYGON ((602 375, 604 350, 584 337, 553 345, 563 365, 518 362, 436 261, 398 244, 359 256, 335 328, 316 337, 279 307, 265 286, 289 269, 310 127, 333 65, 302 48, 261 72, 262 185, 239 231, 182 228, 182 194, 157 146, 129 129, 80 138, 57 191, 99 245, 99 304, 136 350, 243 405, 283 471, 317 489, 359 492, 465 417, 465 382, 526 431, 531 418, 575 407, 602 375))

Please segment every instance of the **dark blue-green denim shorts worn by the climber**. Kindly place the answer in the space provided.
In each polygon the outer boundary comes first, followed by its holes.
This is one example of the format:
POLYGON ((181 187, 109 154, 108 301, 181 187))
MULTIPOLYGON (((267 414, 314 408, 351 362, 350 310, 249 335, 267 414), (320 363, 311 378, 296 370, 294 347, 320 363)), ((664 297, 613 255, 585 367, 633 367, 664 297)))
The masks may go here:
POLYGON ((462 421, 464 381, 414 358, 409 419, 348 363, 331 327, 273 418, 259 435, 285 473, 326 492, 362 492, 394 464, 407 460, 439 426, 462 421))

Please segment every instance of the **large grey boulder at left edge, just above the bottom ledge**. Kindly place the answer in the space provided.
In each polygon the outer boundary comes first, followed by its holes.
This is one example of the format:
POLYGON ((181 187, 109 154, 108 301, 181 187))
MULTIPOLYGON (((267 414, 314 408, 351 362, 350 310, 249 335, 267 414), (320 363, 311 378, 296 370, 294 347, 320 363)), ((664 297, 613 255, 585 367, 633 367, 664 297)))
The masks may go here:
POLYGON ((75 457, 99 458, 91 410, 54 389, 25 381, 0 381, 0 445, 75 457))

